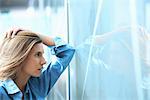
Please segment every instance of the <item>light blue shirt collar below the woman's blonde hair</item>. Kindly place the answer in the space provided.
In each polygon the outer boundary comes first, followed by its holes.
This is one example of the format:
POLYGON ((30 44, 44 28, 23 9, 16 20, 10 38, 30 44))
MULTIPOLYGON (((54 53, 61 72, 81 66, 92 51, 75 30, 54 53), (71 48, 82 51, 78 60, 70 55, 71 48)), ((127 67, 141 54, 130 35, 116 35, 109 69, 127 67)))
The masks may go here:
POLYGON ((17 87, 12 79, 7 79, 6 81, 3 81, 3 86, 8 94, 15 94, 17 92, 20 92, 20 89, 17 87))

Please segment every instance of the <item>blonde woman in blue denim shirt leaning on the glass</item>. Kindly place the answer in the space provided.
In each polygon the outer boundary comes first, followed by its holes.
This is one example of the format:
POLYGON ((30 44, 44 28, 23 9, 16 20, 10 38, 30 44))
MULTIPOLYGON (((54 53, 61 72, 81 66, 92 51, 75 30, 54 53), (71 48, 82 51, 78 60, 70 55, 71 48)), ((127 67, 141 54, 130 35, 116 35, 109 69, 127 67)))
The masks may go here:
POLYGON ((24 30, 8 32, 0 47, 0 100, 44 100, 74 52, 60 38, 24 30), (56 56, 44 71, 42 43, 56 56))

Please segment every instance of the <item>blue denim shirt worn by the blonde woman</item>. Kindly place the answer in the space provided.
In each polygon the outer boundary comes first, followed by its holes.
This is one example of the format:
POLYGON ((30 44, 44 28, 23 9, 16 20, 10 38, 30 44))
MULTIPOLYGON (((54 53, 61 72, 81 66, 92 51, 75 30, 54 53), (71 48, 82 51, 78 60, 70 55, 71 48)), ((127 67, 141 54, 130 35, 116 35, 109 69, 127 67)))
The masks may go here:
POLYGON ((40 77, 31 77, 25 87, 24 93, 20 91, 12 79, 0 82, 0 100, 45 100, 51 88, 54 86, 62 72, 70 63, 75 49, 64 44, 60 38, 55 38, 55 46, 51 46, 51 53, 56 55, 40 77))

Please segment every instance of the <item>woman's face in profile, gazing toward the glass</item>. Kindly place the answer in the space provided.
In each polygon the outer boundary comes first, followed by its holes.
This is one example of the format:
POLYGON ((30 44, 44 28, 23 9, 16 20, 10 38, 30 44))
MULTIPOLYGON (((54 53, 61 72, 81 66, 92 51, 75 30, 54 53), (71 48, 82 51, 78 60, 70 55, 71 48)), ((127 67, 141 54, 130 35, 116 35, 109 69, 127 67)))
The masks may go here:
POLYGON ((46 63, 43 53, 43 44, 35 44, 24 61, 21 72, 28 76, 40 76, 43 65, 46 63))

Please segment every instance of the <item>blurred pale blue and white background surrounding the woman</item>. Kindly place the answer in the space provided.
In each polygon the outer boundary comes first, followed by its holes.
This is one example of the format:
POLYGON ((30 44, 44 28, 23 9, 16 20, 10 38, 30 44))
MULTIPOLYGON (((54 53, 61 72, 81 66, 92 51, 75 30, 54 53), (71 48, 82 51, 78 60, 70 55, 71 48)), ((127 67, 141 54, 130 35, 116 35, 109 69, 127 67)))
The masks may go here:
POLYGON ((149 18, 150 0, 0 0, 1 35, 21 27, 76 48, 47 100, 150 100, 149 18))

